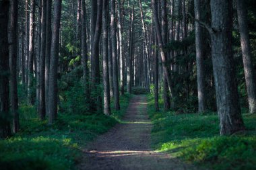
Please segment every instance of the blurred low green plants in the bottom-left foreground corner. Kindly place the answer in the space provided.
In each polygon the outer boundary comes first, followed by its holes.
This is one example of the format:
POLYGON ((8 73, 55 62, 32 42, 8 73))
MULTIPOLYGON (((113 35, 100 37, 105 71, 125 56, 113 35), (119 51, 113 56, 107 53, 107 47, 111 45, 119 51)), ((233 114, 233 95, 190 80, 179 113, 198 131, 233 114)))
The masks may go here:
POLYGON ((77 144, 63 138, 11 138, 0 140, 0 167, 10 169, 74 169, 77 144))

